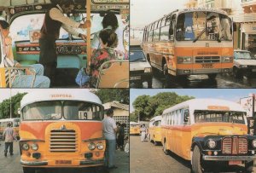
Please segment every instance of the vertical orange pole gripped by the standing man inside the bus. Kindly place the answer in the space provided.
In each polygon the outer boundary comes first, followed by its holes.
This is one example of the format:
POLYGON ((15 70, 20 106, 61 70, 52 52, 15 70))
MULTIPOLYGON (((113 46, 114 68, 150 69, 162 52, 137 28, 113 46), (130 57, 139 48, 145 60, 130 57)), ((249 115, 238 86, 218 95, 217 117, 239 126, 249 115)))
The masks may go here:
MULTIPOLYGON (((90 20, 90 1, 86 1, 86 20, 90 20)), ((86 52, 87 52, 87 67, 90 66, 90 56, 91 56, 91 50, 90 50, 90 27, 87 29, 87 36, 86 36, 86 52)))

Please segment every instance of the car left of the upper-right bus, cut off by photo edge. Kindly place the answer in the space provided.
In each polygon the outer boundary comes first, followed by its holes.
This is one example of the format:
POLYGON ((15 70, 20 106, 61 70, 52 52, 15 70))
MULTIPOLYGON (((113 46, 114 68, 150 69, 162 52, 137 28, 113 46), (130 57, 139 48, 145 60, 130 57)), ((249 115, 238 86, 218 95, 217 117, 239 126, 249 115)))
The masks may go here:
POLYGON ((140 46, 130 46, 130 82, 136 84, 148 83, 152 88, 152 68, 140 46))

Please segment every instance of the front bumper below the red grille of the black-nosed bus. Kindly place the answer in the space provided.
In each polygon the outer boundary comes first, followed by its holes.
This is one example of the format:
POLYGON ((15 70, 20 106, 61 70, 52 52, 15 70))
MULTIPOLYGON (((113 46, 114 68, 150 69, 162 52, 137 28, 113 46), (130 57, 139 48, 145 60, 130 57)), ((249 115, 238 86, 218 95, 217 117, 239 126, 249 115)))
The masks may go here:
POLYGON ((230 160, 241 160, 241 161, 252 161, 256 159, 256 155, 253 156, 203 156, 203 160, 215 160, 215 161, 230 161, 230 160))

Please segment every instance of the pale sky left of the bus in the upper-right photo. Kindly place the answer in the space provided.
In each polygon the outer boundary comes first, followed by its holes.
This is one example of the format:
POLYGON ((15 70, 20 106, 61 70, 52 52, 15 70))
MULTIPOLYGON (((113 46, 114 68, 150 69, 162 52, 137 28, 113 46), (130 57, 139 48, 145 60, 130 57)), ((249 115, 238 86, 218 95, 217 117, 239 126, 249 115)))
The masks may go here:
POLYGON ((189 0, 130 0, 131 28, 143 27, 176 9, 184 9, 189 0))

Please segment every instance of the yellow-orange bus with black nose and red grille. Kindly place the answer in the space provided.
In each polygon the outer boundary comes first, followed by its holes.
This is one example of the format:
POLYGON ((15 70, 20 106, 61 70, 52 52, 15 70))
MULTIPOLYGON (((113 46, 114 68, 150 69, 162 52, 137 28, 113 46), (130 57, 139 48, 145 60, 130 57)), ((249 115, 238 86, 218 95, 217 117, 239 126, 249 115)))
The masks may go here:
POLYGON ((162 117, 164 152, 190 160, 193 172, 217 163, 253 171, 256 136, 247 135, 246 112, 238 103, 193 99, 167 108, 162 117))

